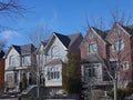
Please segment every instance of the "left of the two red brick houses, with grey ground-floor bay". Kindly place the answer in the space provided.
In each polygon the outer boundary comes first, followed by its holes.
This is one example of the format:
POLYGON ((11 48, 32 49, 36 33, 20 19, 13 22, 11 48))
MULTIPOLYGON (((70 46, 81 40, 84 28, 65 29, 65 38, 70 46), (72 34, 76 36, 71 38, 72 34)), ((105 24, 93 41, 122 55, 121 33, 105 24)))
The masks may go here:
POLYGON ((112 86, 105 71, 104 61, 109 57, 106 50, 109 43, 105 39, 106 33, 104 31, 90 28, 81 43, 81 73, 84 92, 90 90, 89 86, 103 90, 112 86))

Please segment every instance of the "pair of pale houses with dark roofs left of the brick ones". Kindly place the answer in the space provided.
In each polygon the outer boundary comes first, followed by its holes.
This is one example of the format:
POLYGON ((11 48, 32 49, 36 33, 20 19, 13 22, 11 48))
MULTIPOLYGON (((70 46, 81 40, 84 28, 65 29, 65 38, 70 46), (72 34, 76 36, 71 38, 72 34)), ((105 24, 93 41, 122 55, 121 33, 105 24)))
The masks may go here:
POLYGON ((20 92, 20 87, 29 89, 27 87, 39 82, 45 87, 49 94, 63 93, 62 63, 68 60, 68 51, 80 53, 82 39, 81 33, 64 36, 54 32, 38 48, 33 44, 12 44, 4 54, 6 91, 20 92))

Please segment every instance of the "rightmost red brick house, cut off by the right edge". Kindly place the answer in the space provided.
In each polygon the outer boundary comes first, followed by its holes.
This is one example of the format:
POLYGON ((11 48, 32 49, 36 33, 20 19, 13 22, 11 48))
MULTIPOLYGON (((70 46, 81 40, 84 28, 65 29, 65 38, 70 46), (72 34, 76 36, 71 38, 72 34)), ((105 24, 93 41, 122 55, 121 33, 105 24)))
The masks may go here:
POLYGON ((115 23, 110 31, 106 40, 110 47, 110 62, 119 63, 119 87, 124 88, 132 83, 132 62, 133 62, 133 29, 115 23))

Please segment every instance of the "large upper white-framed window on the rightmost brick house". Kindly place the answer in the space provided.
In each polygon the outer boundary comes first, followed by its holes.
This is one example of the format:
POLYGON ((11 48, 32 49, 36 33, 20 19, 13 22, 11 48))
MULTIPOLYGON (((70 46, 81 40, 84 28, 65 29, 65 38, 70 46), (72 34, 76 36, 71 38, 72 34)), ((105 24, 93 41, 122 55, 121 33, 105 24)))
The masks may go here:
POLYGON ((124 39, 117 39, 113 42, 113 50, 121 51, 124 49, 124 39))

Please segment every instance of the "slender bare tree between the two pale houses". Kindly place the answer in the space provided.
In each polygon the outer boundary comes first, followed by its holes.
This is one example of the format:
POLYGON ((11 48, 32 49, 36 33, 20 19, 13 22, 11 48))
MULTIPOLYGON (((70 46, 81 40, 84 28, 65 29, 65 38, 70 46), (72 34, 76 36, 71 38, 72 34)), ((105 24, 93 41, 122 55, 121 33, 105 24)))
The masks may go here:
POLYGON ((30 41, 34 44, 34 46, 39 46, 37 51, 34 52, 35 59, 34 59, 34 63, 32 64, 33 68, 30 69, 30 71, 33 73, 35 80, 37 80, 37 86, 38 86, 38 98, 40 96, 40 82, 41 82, 41 78, 42 77, 47 77, 47 74, 44 74, 44 62, 45 62, 45 52, 44 52, 44 47, 45 43, 49 39, 49 37, 51 36, 51 29, 48 26, 38 26, 37 28, 34 28, 34 30, 31 32, 31 34, 29 36, 30 41), (42 44, 42 47, 41 47, 42 44))

